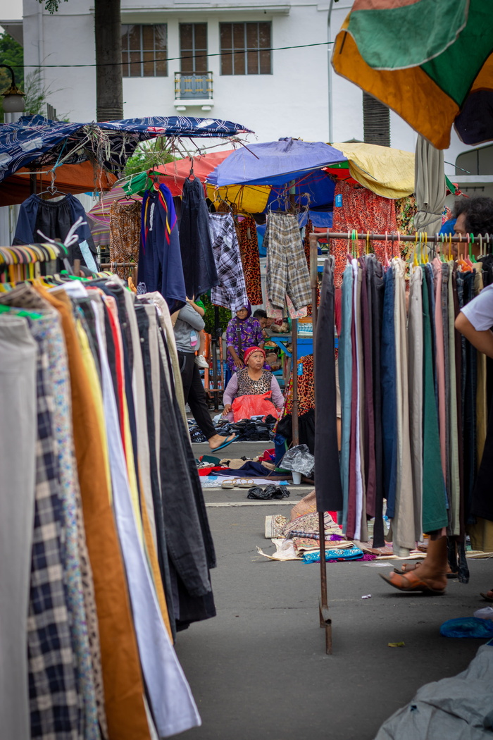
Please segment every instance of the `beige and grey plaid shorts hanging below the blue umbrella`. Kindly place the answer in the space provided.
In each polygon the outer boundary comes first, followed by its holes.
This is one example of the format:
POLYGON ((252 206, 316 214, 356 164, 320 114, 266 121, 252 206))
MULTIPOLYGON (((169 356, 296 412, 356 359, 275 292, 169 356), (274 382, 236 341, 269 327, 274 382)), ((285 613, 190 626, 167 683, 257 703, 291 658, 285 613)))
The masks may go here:
POLYGON ((268 250, 265 286, 273 308, 284 309, 286 295, 296 311, 308 306, 310 273, 298 222, 292 213, 268 215, 264 246, 268 250))

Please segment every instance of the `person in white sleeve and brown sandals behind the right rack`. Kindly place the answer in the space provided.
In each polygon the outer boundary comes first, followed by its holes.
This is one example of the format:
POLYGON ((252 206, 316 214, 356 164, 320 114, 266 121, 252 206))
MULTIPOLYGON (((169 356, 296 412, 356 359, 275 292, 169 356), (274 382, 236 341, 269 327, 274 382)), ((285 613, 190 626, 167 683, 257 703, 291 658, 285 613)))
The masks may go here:
MULTIPOLYGON (((455 234, 466 237, 467 234, 493 234, 493 199, 478 195, 476 198, 460 198, 455 201, 454 212, 455 234)), ((480 246, 471 244, 472 254, 479 256, 480 246)), ((456 257, 458 244, 454 243, 452 252, 456 257)), ((493 286, 491 286, 493 288, 493 286)), ((480 295, 469 301, 461 309, 455 320, 455 328, 481 352, 493 357, 493 334, 489 331, 493 325, 493 294, 490 286, 484 288, 480 295), (478 318, 480 317, 480 318, 478 318), (485 324, 486 320, 486 324, 485 324), (490 322, 490 323, 488 323, 490 322), (489 335, 492 334, 490 337, 489 335), (492 354, 489 354, 489 351, 492 354)), ((483 454, 484 460, 484 454, 483 454)), ((483 465, 483 463, 481 463, 483 465)), ((401 573, 391 573, 390 577, 379 575, 399 591, 423 591, 424 593, 444 593, 446 573, 449 572, 444 531, 430 534, 426 558, 418 565, 404 563, 401 573), (408 567, 409 566, 409 567, 408 567)), ((493 591, 489 591, 486 597, 493 591)))

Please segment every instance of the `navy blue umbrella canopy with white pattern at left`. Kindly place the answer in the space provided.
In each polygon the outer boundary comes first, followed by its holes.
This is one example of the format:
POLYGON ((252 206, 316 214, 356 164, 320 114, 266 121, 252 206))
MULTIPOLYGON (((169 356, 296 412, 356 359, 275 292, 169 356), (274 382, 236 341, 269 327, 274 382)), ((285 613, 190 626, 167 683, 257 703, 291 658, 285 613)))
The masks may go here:
POLYGON ((24 115, 15 124, 0 126, 0 182, 21 167, 49 167, 95 161, 120 172, 140 141, 168 137, 225 137, 250 129, 218 118, 180 115, 126 118, 104 123, 64 123, 42 115, 24 115))

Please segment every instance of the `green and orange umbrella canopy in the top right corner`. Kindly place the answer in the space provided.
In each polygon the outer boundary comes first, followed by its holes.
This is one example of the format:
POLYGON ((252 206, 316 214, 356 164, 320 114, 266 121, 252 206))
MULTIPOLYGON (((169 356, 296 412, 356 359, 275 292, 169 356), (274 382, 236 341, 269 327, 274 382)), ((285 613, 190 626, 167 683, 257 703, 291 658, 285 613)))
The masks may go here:
POLYGON ((438 149, 493 140, 493 13, 484 0, 356 0, 333 48, 336 73, 438 149))

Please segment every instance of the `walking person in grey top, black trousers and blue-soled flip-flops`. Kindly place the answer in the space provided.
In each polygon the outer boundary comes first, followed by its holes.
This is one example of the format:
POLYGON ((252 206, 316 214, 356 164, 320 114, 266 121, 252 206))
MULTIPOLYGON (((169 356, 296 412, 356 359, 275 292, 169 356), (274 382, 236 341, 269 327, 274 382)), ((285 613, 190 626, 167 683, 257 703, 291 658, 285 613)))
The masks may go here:
POLYGON ((176 316, 174 337, 177 343, 183 394, 185 403, 190 406, 191 413, 194 414, 194 419, 208 441, 211 451, 220 450, 231 445, 239 435, 230 434, 228 437, 222 437, 220 434, 216 434, 214 424, 211 422, 205 389, 200 379, 199 368, 195 363, 195 346, 198 342, 197 332, 201 332, 205 324, 203 317, 200 316, 200 311, 191 306, 191 303, 193 301, 188 300, 186 306, 183 306, 183 309, 174 314, 176 316), (193 337, 192 332, 195 337, 193 337), (193 339, 195 341, 192 345, 193 339))

